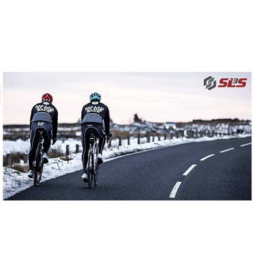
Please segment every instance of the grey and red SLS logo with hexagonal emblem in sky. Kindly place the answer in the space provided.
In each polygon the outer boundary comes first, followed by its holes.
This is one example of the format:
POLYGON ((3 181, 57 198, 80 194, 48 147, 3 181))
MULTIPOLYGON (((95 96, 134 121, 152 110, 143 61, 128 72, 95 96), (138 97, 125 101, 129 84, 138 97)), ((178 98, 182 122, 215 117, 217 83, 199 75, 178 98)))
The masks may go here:
MULTIPOLYGON (((246 86, 247 78, 221 78, 218 87, 220 88, 242 88, 246 86)), ((217 87, 217 81, 214 77, 206 77, 204 79, 205 89, 211 90, 217 87)))

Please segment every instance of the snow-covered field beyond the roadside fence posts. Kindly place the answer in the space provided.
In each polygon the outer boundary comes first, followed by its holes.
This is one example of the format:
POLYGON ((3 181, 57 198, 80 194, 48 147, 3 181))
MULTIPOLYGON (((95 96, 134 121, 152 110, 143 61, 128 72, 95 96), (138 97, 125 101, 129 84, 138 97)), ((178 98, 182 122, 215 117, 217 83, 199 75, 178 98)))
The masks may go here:
MULTIPOLYGON (((185 130, 185 135, 188 134, 189 130, 193 130, 194 132, 200 132, 200 131, 214 131, 217 133, 222 134, 250 134, 251 133, 251 122, 240 122, 241 124, 236 125, 230 125, 229 123, 217 123, 217 124, 184 124, 183 127, 177 128, 177 131, 183 131, 185 130)), ((133 123, 135 125, 136 123, 133 123)), ((152 123, 151 123, 152 124, 152 123)), ((148 124, 149 127, 150 124, 148 124)), ((136 126, 136 125, 135 125, 136 126)), ((146 126, 147 124, 140 124, 137 123, 137 126, 146 126)), ((127 125, 127 127, 130 127, 127 125)), ((51 148, 56 148, 57 151, 62 152, 63 154, 66 153, 66 145, 70 145, 70 152, 74 153, 76 150, 76 144, 79 144, 80 150, 81 150, 81 141, 80 141, 80 126, 71 126, 71 127, 58 127, 58 132, 60 133, 59 136, 62 139, 58 139, 56 144, 52 146, 51 148), (65 136, 63 136, 65 135, 65 136), (69 139, 63 139, 63 138, 69 138, 69 139)), ((175 133, 175 131, 171 131, 172 133, 175 133)), ((146 142, 146 139, 143 135, 145 135, 146 130, 143 132, 141 131, 141 139, 140 143, 143 144, 146 142)), ((162 135, 163 135, 162 131, 162 135)), ((30 142, 28 139, 29 134, 29 127, 23 127, 23 128, 5 128, 4 129, 4 135, 8 135, 6 139, 4 139, 3 143, 3 155, 5 156, 7 153, 28 153, 30 149, 30 142)), ((131 132, 130 132, 131 134, 131 132)), ((131 134, 132 136, 132 134, 131 134)), ((168 134, 169 137, 169 134, 168 134)), ((158 140, 157 136, 155 136, 155 141, 158 140)), ((163 137, 161 137, 161 140, 163 140, 163 137)), ((152 137, 151 137, 152 141, 152 137)), ((131 137, 130 145, 136 145, 137 144, 137 138, 131 137)), ((122 146, 127 146, 127 139, 122 140, 122 146)), ((118 139, 112 139, 111 147, 116 148, 118 147, 118 139)), ((106 146, 105 146, 106 148, 106 146)))

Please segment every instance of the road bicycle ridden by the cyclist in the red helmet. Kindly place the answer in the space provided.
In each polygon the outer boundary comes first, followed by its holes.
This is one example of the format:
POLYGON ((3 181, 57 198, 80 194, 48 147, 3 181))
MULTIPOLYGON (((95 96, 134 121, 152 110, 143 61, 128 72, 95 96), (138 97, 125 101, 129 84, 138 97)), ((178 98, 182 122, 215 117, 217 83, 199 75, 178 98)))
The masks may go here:
POLYGON ((42 161, 42 155, 44 154, 44 143, 43 131, 38 131, 39 134, 39 143, 36 150, 35 160, 33 162, 34 168, 34 186, 36 186, 42 177, 42 169, 44 168, 44 162, 42 161))

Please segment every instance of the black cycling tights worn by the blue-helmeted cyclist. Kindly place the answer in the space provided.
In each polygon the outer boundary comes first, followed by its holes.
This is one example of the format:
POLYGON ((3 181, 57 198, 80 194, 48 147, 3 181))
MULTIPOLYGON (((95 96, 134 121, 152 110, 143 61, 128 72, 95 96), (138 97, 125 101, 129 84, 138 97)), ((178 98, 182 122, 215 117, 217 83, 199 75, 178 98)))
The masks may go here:
POLYGON ((81 142, 82 142, 82 164, 83 172, 85 172, 88 162, 88 153, 90 148, 90 134, 94 134, 96 138, 99 138, 99 153, 102 154, 102 150, 105 145, 105 131, 102 125, 90 125, 85 124, 81 126, 81 142))

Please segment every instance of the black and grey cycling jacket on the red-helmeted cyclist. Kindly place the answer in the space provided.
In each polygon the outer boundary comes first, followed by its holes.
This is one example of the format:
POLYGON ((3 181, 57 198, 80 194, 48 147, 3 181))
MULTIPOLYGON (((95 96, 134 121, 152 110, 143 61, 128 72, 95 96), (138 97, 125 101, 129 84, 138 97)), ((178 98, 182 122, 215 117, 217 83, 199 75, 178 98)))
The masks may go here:
POLYGON ((30 115, 30 128, 33 122, 43 121, 52 124, 53 138, 57 137, 58 111, 50 102, 40 102, 33 106, 30 115))

